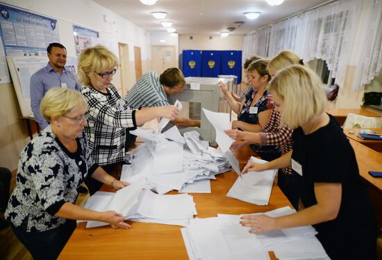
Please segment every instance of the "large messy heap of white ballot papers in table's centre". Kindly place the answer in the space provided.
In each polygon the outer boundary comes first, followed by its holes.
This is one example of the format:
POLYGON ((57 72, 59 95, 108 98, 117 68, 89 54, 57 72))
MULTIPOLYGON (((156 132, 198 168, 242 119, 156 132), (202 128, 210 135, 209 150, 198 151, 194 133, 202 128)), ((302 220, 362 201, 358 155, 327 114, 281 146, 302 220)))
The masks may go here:
POLYGON ((210 179, 229 170, 224 152, 200 140, 197 131, 181 136, 176 127, 137 129, 131 133, 144 138, 144 145, 126 154, 131 165, 122 168, 121 181, 146 179, 148 188, 165 194, 170 190, 210 193, 210 179), (147 139, 149 138, 149 139, 147 139))

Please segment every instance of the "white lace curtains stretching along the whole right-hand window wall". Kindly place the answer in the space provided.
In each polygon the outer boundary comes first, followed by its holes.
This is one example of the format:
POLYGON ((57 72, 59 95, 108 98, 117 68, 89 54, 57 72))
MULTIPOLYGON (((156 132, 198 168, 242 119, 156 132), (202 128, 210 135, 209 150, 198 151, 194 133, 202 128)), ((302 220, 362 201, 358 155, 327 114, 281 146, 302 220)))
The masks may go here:
MULTIPOLYGON (((339 0, 272 24, 267 57, 272 58, 283 49, 292 49, 305 62, 314 58, 326 60, 339 86, 343 86, 344 74, 352 62, 357 65, 357 73, 360 72, 358 81, 365 84, 381 70, 381 4, 382 0, 339 0), (361 10, 367 18, 360 24, 361 10), (360 44, 360 57, 351 60, 354 42, 360 36, 356 32, 365 32, 365 40, 360 44)), ((251 42, 260 42, 257 33, 249 35, 251 42)), ((244 47, 251 42, 244 42, 244 47)), ((256 52, 251 52, 248 56, 254 54, 256 52)), ((360 84, 357 86, 362 88, 360 84)))

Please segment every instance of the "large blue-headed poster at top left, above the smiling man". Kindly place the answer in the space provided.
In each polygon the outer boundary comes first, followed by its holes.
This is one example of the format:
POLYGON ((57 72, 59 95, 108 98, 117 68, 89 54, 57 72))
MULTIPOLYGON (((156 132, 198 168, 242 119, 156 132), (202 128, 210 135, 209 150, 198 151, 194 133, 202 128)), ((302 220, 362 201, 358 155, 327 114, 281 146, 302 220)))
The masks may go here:
POLYGON ((8 56, 43 56, 60 42, 57 20, 0 4, 0 36, 8 56))

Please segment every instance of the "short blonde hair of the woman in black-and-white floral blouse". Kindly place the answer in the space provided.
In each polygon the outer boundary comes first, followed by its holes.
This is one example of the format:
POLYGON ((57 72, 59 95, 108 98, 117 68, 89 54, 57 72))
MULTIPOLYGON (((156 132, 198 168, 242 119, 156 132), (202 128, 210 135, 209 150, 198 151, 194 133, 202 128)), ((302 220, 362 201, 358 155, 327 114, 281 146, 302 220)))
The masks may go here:
POLYGON ((51 122, 51 117, 62 117, 73 108, 88 110, 88 103, 80 92, 69 88, 51 88, 41 100, 42 116, 51 122))

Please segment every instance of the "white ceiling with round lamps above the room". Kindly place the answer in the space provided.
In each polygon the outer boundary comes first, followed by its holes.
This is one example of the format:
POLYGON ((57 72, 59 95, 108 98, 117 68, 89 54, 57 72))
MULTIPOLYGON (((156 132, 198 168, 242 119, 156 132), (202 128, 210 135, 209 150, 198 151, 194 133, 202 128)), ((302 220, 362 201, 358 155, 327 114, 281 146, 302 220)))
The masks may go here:
POLYGON ((233 34, 246 34, 272 22, 319 6, 328 0, 285 0, 280 6, 269 6, 265 0, 158 0, 144 6, 139 0, 93 0, 128 19, 150 33, 165 33, 160 22, 173 22, 179 34, 218 34, 227 27, 236 27, 233 34), (166 12, 165 19, 155 19, 151 12, 166 12), (261 12, 250 20, 245 12, 261 12), (238 28, 236 21, 244 22, 238 28))

